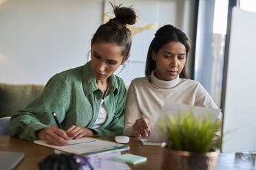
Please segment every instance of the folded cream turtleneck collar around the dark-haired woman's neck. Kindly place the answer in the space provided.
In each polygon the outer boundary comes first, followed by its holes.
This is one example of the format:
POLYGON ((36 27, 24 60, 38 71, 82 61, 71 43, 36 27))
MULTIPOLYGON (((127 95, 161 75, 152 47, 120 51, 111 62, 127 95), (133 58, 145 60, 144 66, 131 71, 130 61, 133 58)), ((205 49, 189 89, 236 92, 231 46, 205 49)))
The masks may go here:
POLYGON ((155 71, 152 71, 151 74, 149 75, 149 77, 150 77, 152 85, 156 88, 173 88, 180 82, 179 75, 174 80, 170 80, 170 81, 159 80, 155 76, 155 71))

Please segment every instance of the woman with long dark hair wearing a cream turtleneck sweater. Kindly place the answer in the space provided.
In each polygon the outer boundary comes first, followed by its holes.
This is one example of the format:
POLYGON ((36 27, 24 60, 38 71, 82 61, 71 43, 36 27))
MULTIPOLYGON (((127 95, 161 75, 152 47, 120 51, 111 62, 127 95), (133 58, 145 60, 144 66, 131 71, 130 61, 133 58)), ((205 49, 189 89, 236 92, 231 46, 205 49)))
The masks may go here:
POLYGON ((187 78, 189 49, 189 38, 180 29, 172 25, 158 29, 149 46, 146 77, 136 78, 129 86, 123 134, 147 137, 164 101, 217 108, 204 87, 187 78))

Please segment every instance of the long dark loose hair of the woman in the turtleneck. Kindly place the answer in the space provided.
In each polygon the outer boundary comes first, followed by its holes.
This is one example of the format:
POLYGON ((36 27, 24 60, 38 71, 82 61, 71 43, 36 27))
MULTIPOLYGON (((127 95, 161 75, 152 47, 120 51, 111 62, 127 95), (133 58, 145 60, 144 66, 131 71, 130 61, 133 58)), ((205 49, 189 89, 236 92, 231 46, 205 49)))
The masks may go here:
MULTIPOLYGON (((191 43, 189 38, 182 32, 182 30, 173 27, 173 25, 164 25, 163 27, 160 27, 158 31, 155 34, 155 38, 151 41, 151 44, 149 45, 149 51, 147 52, 147 62, 146 62, 146 69, 145 69, 145 75, 148 77, 151 72, 156 69, 156 61, 152 59, 151 55, 154 51, 155 53, 158 53, 159 49, 162 48, 165 44, 172 41, 178 41, 181 42, 186 47, 186 62, 188 60, 187 56, 189 53, 189 49, 191 47, 191 43)), ((180 73, 181 78, 188 78, 189 75, 187 73, 186 69, 186 63, 185 66, 180 73)))

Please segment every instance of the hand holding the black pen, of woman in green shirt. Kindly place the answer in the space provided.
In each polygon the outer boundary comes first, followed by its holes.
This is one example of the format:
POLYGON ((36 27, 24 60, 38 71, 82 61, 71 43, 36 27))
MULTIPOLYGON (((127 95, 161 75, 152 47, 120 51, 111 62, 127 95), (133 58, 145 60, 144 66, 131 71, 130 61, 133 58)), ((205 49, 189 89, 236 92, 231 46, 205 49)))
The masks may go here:
POLYGON ((36 135, 41 140, 45 141, 45 143, 58 146, 67 145, 67 142, 74 138, 73 132, 65 132, 56 127, 56 125, 45 127, 42 130, 37 131, 36 135))

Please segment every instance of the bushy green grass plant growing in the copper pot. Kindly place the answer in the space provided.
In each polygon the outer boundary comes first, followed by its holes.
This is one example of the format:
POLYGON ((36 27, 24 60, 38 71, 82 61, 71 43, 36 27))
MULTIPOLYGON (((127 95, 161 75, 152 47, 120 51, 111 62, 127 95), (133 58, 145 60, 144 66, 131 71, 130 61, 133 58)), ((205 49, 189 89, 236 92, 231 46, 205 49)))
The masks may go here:
POLYGON ((195 117, 193 110, 177 116, 164 113, 160 130, 166 138, 167 148, 195 153, 220 149, 221 138, 216 132, 220 131, 221 122, 211 117, 211 114, 203 117, 203 113, 195 117))

